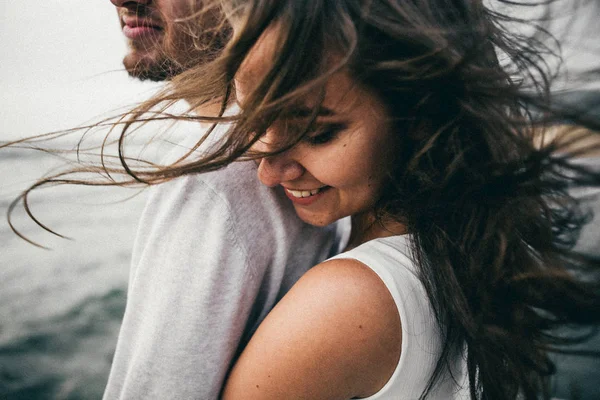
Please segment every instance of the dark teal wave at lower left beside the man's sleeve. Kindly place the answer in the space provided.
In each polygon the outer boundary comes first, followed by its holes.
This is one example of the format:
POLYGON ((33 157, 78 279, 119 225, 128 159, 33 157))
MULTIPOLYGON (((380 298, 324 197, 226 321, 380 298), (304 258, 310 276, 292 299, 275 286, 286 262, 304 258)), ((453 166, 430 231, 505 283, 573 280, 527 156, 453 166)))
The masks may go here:
POLYGON ((100 398, 124 310, 125 288, 114 288, 0 345, 0 398, 100 398))

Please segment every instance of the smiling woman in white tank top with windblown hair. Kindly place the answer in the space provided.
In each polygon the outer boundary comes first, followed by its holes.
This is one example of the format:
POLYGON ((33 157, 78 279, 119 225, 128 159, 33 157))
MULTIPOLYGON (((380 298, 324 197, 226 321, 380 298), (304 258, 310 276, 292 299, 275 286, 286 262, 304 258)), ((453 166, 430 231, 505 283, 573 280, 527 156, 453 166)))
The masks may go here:
POLYGON ((347 251, 272 310, 223 397, 549 397, 548 353, 569 342, 555 329, 600 319, 600 265, 571 249, 585 218, 566 192, 600 176, 536 145, 567 114, 598 128, 549 103, 536 43, 479 1, 222 3, 225 51, 132 121, 164 100, 235 98, 215 119, 232 128, 201 160, 127 172, 256 159, 305 222, 352 220, 347 251))

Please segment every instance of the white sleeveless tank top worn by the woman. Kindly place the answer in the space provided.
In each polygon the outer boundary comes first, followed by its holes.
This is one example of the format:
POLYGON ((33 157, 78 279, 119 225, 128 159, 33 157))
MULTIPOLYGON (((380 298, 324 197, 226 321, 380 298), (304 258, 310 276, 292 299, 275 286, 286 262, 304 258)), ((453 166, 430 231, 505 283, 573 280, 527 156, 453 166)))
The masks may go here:
MULTIPOLYGON (((410 235, 374 239, 335 258, 351 258, 371 268, 381 278, 398 307, 402 324, 400 360, 385 386, 369 400, 419 399, 433 375, 443 332, 410 257, 410 235)), ((427 399, 468 400, 469 385, 463 355, 455 357, 427 399)))

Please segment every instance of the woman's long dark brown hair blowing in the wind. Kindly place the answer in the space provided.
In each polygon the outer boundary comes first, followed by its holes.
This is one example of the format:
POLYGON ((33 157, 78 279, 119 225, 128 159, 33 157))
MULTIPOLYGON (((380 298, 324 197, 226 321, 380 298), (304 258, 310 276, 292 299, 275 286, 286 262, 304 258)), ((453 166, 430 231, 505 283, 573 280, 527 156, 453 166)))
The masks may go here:
MULTIPOLYGON (((530 22, 504 14, 501 6, 515 3, 508 0, 488 2, 493 8, 479 0, 221 3, 236 26, 224 50, 118 122, 122 165, 110 172, 130 177, 119 184, 160 183, 283 152, 310 132, 318 105, 306 129, 290 132, 276 151, 251 147, 307 94, 322 95, 332 74, 349 71, 394 117, 396 162, 376 211, 413 235, 420 278, 444 328, 444 349, 422 397, 466 348, 473 399, 548 398, 549 354, 582 339, 558 328, 600 322, 600 260, 573 250, 589 216, 568 192, 600 186, 600 173, 574 160, 589 148, 573 150, 600 124, 551 99, 547 60, 556 54, 541 23, 547 15, 525 35, 509 32, 530 22), (240 65, 270 27, 278 47, 265 60, 269 71, 244 110, 224 117, 240 65), (161 113, 182 98, 190 110, 219 103, 221 112, 161 113), (233 123, 210 154, 190 151, 174 164, 136 168, 123 154, 129 130, 162 118, 233 123), (590 130, 544 140, 565 120, 590 130)), ((21 200, 26 204, 27 193, 21 200)))

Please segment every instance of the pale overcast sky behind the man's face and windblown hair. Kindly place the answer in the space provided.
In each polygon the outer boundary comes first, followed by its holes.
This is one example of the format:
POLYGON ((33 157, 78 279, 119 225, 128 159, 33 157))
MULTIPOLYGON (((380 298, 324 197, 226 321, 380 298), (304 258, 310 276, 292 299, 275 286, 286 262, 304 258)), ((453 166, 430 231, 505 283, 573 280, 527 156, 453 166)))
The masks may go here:
MULTIPOLYGON (((571 69, 597 63, 596 31, 568 50, 571 69)), ((572 47, 572 46, 570 46, 572 47)), ((0 140, 64 129, 139 101, 156 87, 130 79, 125 40, 109 0, 0 1, 0 140)))

